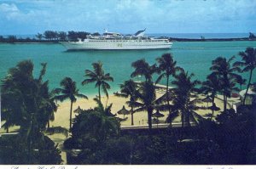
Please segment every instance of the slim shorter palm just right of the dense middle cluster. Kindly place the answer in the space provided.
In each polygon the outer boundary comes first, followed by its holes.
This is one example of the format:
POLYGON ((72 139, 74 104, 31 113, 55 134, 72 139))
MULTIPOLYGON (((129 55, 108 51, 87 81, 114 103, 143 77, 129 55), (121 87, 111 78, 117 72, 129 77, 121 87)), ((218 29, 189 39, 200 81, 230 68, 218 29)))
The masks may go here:
MULTIPOLYGON (((215 99, 218 91, 221 90, 221 86, 218 82, 218 76, 216 76, 215 74, 208 75, 207 81, 202 82, 201 90, 205 94, 210 93, 210 98, 212 99, 212 108, 213 108, 213 106, 215 105, 214 99, 215 99)), ((213 117, 213 114, 214 114, 214 110, 212 109, 212 117, 213 117)), ((212 117, 211 117, 211 119, 212 119, 212 117)))

